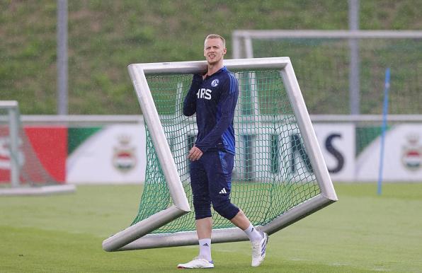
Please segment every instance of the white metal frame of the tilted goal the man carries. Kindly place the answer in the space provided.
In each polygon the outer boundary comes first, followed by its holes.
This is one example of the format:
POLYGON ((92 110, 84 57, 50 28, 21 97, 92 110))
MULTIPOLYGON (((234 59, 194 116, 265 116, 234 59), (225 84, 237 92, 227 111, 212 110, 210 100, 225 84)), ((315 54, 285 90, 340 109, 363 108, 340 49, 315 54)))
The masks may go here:
MULTIPOLYGON (((281 216, 278 216, 270 223, 260 226, 261 231, 269 235, 279 231, 285 226, 298 221, 305 216, 318 211, 327 205, 336 202, 337 196, 322 156, 317 136, 315 136, 306 105, 304 103, 299 84, 293 71, 290 58, 257 58, 257 59, 227 59, 224 66, 231 70, 245 69, 278 69, 282 76, 287 94, 297 118, 297 123, 303 137, 305 149, 317 178, 321 192, 311 199, 289 209, 281 216)), ((181 245, 196 245, 198 237, 196 231, 183 231, 176 233, 148 234, 156 228, 187 214, 190 205, 186 198, 181 178, 178 175, 173 156, 169 148, 163 127, 159 120, 158 112, 149 89, 146 75, 149 74, 197 74, 205 71, 206 61, 195 62, 169 62, 130 64, 128 66, 130 79, 137 93, 139 105, 144 115, 144 121, 152 136, 159 163, 164 172, 166 183, 173 200, 173 206, 150 216, 147 219, 135 223, 133 226, 116 233, 110 238, 103 240, 103 249, 106 251, 137 250, 146 248, 165 248, 181 245)), ((221 228, 212 231, 212 243, 226 243, 234 241, 249 240, 244 231, 239 228, 221 228)))

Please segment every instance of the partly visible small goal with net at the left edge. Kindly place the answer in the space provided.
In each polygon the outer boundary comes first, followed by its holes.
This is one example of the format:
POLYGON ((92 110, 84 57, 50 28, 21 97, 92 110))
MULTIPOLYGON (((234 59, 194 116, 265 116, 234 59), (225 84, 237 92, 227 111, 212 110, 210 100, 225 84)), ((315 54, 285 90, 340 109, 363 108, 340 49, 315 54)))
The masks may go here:
POLYGON ((45 170, 23 128, 16 100, 0 100, 0 196, 74 192, 45 170))

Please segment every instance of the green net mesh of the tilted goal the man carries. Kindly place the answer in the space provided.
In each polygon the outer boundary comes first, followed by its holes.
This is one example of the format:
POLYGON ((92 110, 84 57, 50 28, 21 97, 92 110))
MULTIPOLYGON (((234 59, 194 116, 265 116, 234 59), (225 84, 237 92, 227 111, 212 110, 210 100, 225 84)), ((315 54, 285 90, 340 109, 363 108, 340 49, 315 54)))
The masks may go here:
MULTIPOLYGON (((239 100, 234 116, 236 156, 231 199, 251 223, 264 225, 320 193, 280 71, 235 71, 239 100)), ((191 74, 147 76, 190 206, 188 151, 195 143, 195 115, 182 114, 191 74)), ((132 224, 173 203, 147 129, 147 168, 139 211, 132 224)), ((213 228, 232 223, 212 211, 213 228)), ((190 212, 154 233, 195 230, 190 212)))

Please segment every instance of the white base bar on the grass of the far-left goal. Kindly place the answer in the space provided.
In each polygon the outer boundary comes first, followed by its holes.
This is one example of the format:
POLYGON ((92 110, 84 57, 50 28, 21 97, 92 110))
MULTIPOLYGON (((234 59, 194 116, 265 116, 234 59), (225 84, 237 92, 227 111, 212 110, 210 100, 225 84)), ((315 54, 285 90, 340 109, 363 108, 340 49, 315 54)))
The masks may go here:
POLYGON ((33 187, 10 187, 6 189, 0 188, 0 196, 35 196, 35 195, 50 195, 50 194, 68 194, 76 191, 76 186, 72 184, 67 185, 46 185, 33 187))

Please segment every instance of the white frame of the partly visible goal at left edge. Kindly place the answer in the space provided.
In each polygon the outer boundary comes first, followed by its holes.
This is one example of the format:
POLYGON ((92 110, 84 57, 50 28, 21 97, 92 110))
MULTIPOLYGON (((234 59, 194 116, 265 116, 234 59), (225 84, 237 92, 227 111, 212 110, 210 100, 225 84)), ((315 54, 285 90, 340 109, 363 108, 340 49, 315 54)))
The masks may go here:
POLYGON ((69 193, 76 190, 75 185, 45 185, 40 187, 22 187, 20 185, 20 166, 18 163, 17 154, 19 151, 19 130, 21 129, 21 120, 19 115, 19 103, 16 100, 0 100, 0 108, 6 109, 8 112, 8 138, 9 138, 9 153, 11 155, 11 187, 0 188, 1 196, 16 196, 16 195, 47 195, 69 193), (12 156, 13 155, 13 156, 12 156))

